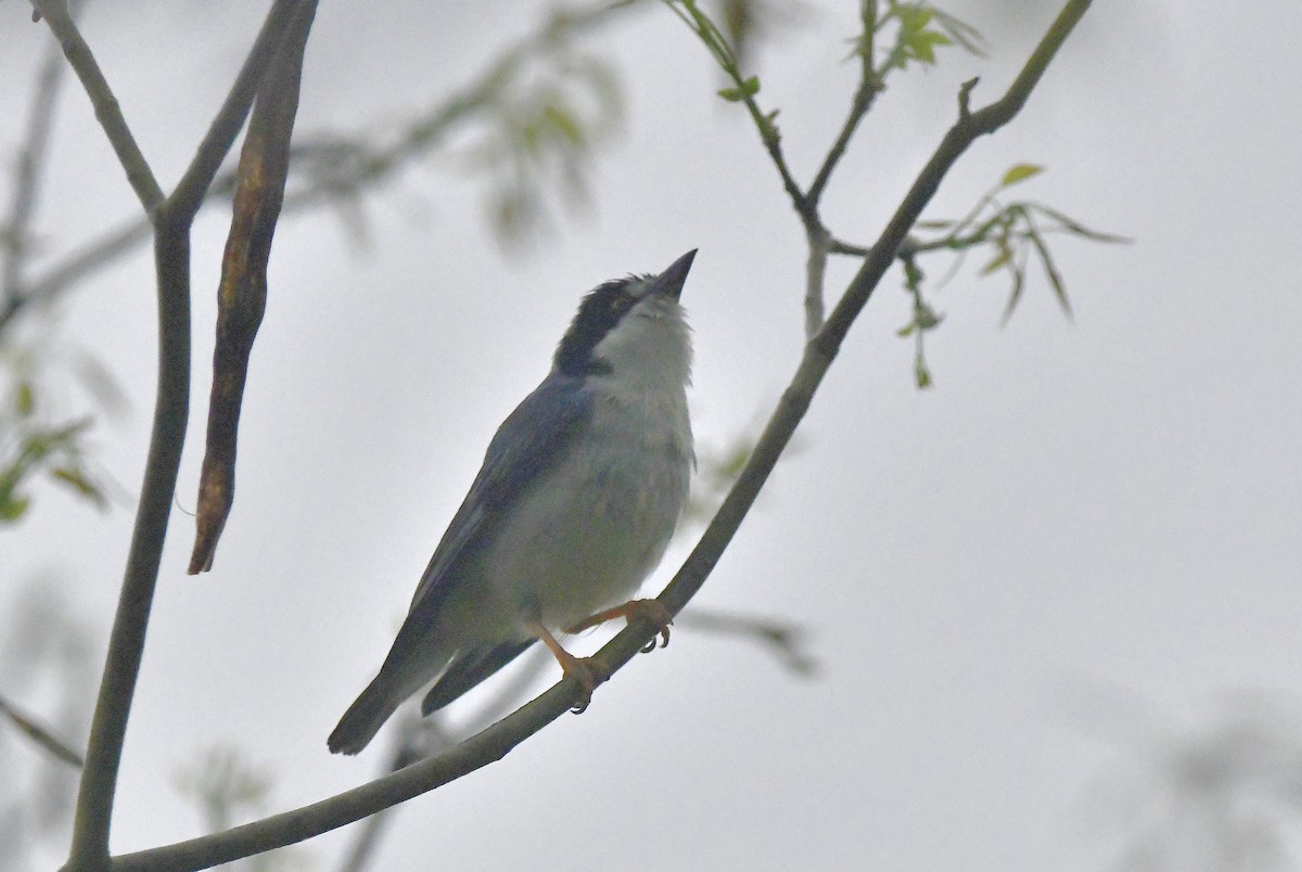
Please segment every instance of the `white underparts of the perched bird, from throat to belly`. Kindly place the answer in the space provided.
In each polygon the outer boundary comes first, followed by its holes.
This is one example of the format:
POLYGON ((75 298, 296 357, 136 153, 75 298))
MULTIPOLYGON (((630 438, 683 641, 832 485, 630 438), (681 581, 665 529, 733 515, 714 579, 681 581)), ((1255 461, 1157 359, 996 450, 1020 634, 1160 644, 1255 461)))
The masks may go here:
MULTIPOLYGON (((638 305, 599 345, 591 418, 521 493, 486 561, 518 621, 564 629, 633 596, 664 556, 694 463, 682 311, 638 305)), ((521 627, 521 638, 529 633, 521 627)))

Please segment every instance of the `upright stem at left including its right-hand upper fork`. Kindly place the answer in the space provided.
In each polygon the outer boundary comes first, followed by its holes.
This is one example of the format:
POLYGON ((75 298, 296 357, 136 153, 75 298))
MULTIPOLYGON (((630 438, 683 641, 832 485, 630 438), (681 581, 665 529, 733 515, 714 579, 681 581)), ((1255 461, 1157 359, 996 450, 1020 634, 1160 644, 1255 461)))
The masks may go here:
MULTIPOLYGON (((57 5, 62 10, 61 3, 36 1, 43 13, 47 5, 57 5)), ((109 859, 108 836, 122 742, 145 653, 145 633, 158 584, 189 418, 190 225, 203 193, 212 181, 212 173, 221 163, 224 150, 229 150, 249 112, 262 73, 284 40, 289 16, 298 3, 299 0, 276 0, 230 96, 221 107, 190 169, 171 198, 163 200, 159 195, 158 202, 151 204, 159 307, 158 398, 141 501, 91 721, 86 768, 77 795, 69 869, 102 869, 108 865, 109 859)), ((55 26, 53 21, 51 26, 55 26)), ((104 87, 107 92, 107 85, 104 87)), ((125 130, 125 122, 122 128, 125 130)))

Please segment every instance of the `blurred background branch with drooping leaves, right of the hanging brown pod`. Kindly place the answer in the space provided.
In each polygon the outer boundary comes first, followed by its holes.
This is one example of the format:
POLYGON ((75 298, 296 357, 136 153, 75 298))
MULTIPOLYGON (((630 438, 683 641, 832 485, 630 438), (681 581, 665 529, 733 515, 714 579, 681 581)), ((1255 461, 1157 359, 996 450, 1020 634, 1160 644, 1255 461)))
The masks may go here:
MULTIPOLYGON (((635 3, 555 9, 483 73, 402 122, 296 134, 285 208, 329 203, 365 236, 362 194, 444 155, 484 180, 490 226, 504 247, 519 249, 547 229, 557 198, 586 202, 596 148, 618 129, 624 95, 613 64, 579 39, 635 3)), ((221 198, 233 191, 233 176, 214 185, 221 198)))

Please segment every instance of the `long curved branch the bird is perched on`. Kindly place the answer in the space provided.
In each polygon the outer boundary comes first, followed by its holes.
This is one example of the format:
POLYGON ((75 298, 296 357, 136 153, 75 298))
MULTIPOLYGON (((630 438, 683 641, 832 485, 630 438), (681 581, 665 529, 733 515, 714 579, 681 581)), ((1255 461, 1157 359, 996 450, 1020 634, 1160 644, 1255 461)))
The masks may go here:
MULTIPOLYGON (((992 133, 1017 115, 1043 75, 1049 60, 1088 7, 1090 0, 1070 0, 1008 94, 997 103, 960 118, 958 124, 945 135, 936 154, 910 189, 909 197, 887 225, 881 238, 872 246, 865 267, 852 281, 832 318, 819 336, 806 346, 792 384, 783 394, 737 483, 724 498, 686 562, 660 593, 660 604, 672 614, 681 612, 682 606, 695 596, 732 541, 769 472, 776 466, 783 449, 786 448, 796 427, 809 410, 814 393, 836 357, 846 331, 863 308, 863 303, 867 302, 876 281, 880 281, 881 275, 891 266, 896 249, 927 200, 935 194, 945 172, 976 137, 992 133), (878 269, 880 272, 875 272, 878 269)), ((656 635, 654 627, 634 623, 611 639, 596 656, 611 666, 613 674, 656 635)), ((344 826, 501 760, 521 742, 568 712, 578 700, 581 690, 578 681, 562 678, 540 696, 497 724, 461 744, 413 764, 401 772, 311 806, 243 826, 148 851, 125 854, 113 860, 112 868, 115 871, 167 869, 168 872, 203 869, 344 826)))

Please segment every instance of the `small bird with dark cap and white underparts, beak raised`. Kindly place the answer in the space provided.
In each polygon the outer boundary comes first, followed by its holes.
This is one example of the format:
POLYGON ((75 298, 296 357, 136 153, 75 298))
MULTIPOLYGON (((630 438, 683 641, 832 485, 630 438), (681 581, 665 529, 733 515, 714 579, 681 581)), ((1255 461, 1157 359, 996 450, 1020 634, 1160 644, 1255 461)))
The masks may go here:
POLYGON ((695 467, 680 303, 695 255, 583 297, 547 377, 490 441, 384 664, 329 734, 331 752, 358 754, 431 682, 422 715, 536 642, 578 679, 583 711, 609 670, 570 655, 559 631, 625 618, 668 643, 669 612, 630 597, 664 557, 695 467))

